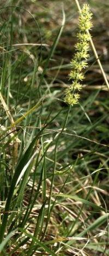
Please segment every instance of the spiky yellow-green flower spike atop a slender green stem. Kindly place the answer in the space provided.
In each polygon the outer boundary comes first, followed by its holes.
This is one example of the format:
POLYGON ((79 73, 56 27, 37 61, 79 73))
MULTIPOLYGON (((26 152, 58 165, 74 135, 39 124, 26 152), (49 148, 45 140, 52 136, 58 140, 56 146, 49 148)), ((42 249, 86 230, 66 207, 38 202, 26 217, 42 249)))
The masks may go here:
POLYGON ((69 79, 72 80, 72 84, 65 90, 64 101, 70 105, 78 103, 80 94, 77 91, 82 89, 80 83, 84 79, 82 69, 88 66, 87 59, 89 57, 89 30, 92 28, 92 13, 90 13, 90 7, 88 4, 84 4, 78 19, 78 42, 75 45, 75 55, 71 60, 72 71, 69 74, 69 79))

